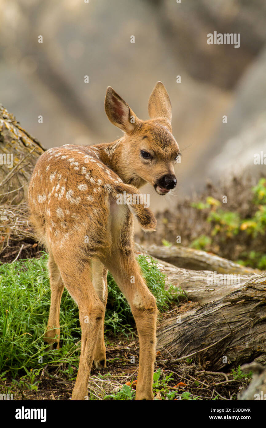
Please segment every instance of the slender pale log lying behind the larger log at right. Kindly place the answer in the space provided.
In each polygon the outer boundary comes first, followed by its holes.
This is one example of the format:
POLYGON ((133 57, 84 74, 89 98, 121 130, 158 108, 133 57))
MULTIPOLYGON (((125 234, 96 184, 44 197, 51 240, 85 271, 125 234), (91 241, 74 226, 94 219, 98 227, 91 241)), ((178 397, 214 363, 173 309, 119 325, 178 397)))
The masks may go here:
MULTIPOLYGON (((144 247, 145 248, 145 247, 144 247)), ((223 259, 216 254, 206 251, 194 250, 172 245, 171 247, 159 247, 158 245, 149 245, 145 248, 148 253, 156 259, 171 263, 178 268, 193 270, 213 270, 217 273, 241 273, 242 275, 253 273, 254 270, 234 263, 231 260, 223 259)))

